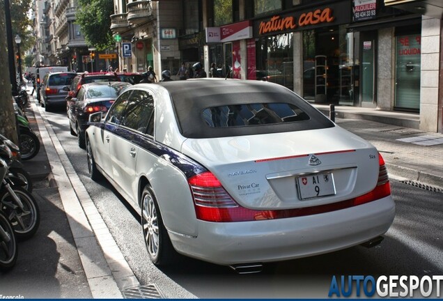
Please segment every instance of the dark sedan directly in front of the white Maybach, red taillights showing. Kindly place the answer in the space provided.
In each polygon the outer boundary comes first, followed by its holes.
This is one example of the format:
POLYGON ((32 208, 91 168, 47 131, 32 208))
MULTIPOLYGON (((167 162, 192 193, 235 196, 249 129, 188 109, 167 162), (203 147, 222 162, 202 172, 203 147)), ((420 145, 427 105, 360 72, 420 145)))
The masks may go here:
POLYGON ((68 100, 69 128, 77 136, 79 146, 84 148, 84 132, 88 128, 89 115, 95 112, 106 113, 128 82, 95 82, 80 87, 76 98, 68 100))

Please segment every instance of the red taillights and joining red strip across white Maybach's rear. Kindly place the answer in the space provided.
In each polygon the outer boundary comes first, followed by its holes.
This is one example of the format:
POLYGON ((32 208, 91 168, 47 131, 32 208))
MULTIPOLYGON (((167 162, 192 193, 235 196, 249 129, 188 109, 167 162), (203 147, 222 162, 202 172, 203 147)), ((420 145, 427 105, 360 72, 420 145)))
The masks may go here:
POLYGON ((283 219, 342 210, 389 196, 391 194, 391 187, 387 178, 384 160, 380 154, 379 165, 378 183, 371 192, 336 203, 286 210, 251 210, 241 207, 209 171, 189 178, 188 183, 194 197, 196 217, 203 221, 247 222, 264 219, 283 219))

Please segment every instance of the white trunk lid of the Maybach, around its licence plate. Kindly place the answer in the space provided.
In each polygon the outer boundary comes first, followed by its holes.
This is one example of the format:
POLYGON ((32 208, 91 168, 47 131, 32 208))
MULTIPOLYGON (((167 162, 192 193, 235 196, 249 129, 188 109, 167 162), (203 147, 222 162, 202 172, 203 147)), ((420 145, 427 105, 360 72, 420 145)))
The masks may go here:
POLYGON ((373 190, 379 170, 377 150, 339 127, 247 137, 188 139, 182 152, 214 173, 241 206, 261 210, 302 208, 351 199, 373 190), (318 155, 322 164, 308 164, 313 153, 349 150, 356 151, 318 155), (306 154, 309 156, 255 162, 306 154), (321 171, 333 172, 336 195, 300 200, 295 176, 321 171))

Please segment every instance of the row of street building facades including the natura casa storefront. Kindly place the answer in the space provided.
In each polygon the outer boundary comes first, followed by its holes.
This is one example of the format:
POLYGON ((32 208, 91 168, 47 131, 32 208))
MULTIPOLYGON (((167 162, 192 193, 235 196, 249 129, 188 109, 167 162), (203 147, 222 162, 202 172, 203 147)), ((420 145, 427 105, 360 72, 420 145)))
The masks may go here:
MULTIPOLYGON (((77 43, 75 1, 52 1, 63 58, 77 43)), ((430 0, 114 0, 110 63, 157 75, 215 63, 219 77, 276 82, 314 103, 415 112, 421 130, 442 132, 442 12, 430 0)))

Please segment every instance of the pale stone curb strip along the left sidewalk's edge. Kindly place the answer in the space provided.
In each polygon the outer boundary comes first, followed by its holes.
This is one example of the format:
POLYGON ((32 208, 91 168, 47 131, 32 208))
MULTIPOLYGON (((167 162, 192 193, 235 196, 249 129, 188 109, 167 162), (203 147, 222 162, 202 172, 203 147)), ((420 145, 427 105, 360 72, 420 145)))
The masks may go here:
POLYGON ((123 254, 109 233, 86 188, 75 173, 51 125, 42 118, 39 107, 31 107, 36 116, 47 157, 51 157, 50 187, 58 187, 93 298, 123 298, 122 291, 139 285, 123 254))

